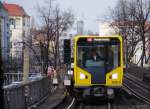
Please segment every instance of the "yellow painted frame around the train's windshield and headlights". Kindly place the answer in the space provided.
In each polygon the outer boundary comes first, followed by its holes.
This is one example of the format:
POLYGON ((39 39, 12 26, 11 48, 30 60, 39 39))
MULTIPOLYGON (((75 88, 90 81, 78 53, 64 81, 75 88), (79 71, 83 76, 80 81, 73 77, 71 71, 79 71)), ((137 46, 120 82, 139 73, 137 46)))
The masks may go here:
POLYGON ((105 85, 105 86, 122 86, 123 79, 123 47, 122 47, 122 37, 121 36, 76 36, 74 38, 74 85, 75 86, 91 86, 91 85, 105 85), (91 75, 87 71, 77 67, 77 41, 79 38, 118 38, 120 40, 120 66, 116 69, 113 69, 111 72, 106 74, 106 84, 91 84, 91 75), (80 80, 79 73, 87 75, 87 79, 80 80), (113 73, 118 73, 118 79, 112 80, 110 79, 110 75, 113 73))

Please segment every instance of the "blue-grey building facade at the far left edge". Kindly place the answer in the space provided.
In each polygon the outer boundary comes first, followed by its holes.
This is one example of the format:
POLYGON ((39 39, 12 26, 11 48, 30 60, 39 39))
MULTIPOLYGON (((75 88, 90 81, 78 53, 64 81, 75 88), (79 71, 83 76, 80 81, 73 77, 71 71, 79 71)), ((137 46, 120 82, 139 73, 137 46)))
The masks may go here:
POLYGON ((9 17, 7 10, 0 2, 0 37, 2 47, 3 64, 9 62, 9 17))

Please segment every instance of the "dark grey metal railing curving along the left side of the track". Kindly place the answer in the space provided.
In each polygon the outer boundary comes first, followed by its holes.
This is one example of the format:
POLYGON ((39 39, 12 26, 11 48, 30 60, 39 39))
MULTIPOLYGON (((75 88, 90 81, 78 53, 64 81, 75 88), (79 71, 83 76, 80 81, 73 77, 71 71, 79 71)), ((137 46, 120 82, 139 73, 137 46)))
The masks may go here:
POLYGON ((27 84, 3 88, 4 109, 26 109, 38 103, 51 93, 51 79, 44 77, 41 80, 27 84))

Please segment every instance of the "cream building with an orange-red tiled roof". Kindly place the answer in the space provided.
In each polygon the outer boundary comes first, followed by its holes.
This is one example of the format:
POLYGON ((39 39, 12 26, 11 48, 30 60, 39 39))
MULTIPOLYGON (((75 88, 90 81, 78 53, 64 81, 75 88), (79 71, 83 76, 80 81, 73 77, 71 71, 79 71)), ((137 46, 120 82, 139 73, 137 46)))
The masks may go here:
POLYGON ((30 31, 30 17, 17 4, 4 3, 4 7, 8 11, 10 22, 11 57, 22 58, 23 43, 28 39, 30 31))

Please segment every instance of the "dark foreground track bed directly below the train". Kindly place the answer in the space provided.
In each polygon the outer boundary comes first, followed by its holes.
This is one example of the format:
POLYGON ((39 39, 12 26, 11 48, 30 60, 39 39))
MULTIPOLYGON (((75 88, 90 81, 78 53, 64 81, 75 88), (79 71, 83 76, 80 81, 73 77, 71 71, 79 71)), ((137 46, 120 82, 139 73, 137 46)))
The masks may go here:
POLYGON ((95 102, 94 104, 77 102, 75 98, 68 97, 61 105, 59 105, 55 109, 150 109, 150 105, 146 105, 146 103, 141 102, 141 100, 135 98, 134 96, 132 96, 132 98, 130 99, 123 99, 122 97, 124 96, 116 98, 121 102, 118 102, 118 100, 114 101, 114 103, 110 103, 109 101, 105 103, 97 101, 96 104, 95 102))

